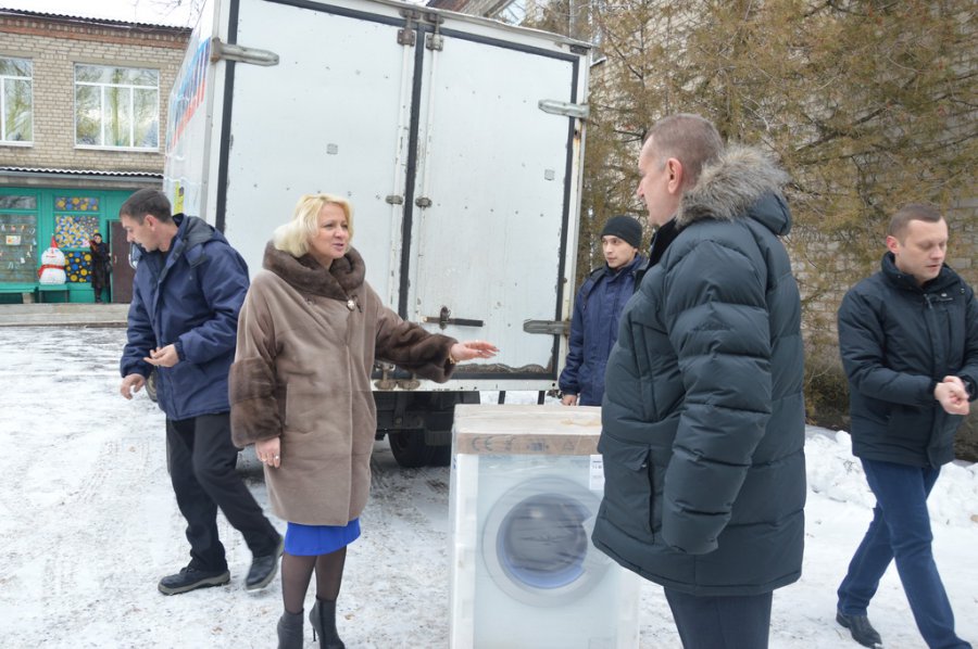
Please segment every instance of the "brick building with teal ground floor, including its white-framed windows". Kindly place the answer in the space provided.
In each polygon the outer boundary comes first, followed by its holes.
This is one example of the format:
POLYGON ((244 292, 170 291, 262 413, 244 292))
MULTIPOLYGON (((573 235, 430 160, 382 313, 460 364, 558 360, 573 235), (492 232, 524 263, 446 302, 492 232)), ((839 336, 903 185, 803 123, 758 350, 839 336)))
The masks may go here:
POLYGON ((189 35, 0 8, 0 303, 91 302, 93 231, 113 253, 113 301, 128 302, 118 207, 161 186, 167 98, 189 35), (52 238, 67 282, 46 291, 37 269, 52 238))

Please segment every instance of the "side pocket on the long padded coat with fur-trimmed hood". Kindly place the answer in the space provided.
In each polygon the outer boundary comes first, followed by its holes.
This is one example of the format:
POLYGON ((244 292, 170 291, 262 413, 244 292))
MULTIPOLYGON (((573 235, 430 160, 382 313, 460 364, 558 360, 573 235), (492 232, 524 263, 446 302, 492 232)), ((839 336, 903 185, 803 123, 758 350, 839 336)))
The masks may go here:
POLYGON ((648 446, 601 440, 604 507, 609 522, 629 536, 651 540, 654 517, 653 467, 648 446))

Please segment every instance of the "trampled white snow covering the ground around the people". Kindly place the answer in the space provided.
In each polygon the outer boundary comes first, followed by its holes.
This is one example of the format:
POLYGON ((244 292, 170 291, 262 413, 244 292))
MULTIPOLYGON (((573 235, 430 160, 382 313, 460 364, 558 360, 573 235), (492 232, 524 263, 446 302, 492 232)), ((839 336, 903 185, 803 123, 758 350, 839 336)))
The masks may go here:
MULTIPOLYGON (((243 589, 251 556, 223 519, 231 583, 156 591, 162 575, 187 562, 187 546, 163 415, 142 394, 118 396, 123 341, 121 329, 0 329, 0 645, 274 647, 278 578, 259 593, 243 589)), ((806 451, 804 574, 775 594, 772 647, 855 648, 833 622, 835 589, 873 498, 847 434, 812 428, 806 451)), ((384 442, 373 469, 363 537, 350 548, 340 595, 341 635, 350 649, 447 647, 449 469, 400 469, 384 442)), ((247 480, 267 506, 260 470, 247 480)), ((945 467, 930 507, 958 634, 978 644, 978 467, 945 467)), ((306 608, 312 589, 309 597, 306 608)), ((869 612, 888 648, 924 647, 892 567, 869 612)), ((679 647, 653 584, 642 585, 640 621, 641 649, 679 647)))

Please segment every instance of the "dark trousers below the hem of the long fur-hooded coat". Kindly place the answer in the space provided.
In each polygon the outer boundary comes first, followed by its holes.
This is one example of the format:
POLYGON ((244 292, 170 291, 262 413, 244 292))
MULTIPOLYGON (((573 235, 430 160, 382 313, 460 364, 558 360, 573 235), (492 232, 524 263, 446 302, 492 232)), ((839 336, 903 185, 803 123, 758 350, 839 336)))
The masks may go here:
POLYGON ((684 649, 767 649, 772 594, 698 596, 665 588, 684 649))

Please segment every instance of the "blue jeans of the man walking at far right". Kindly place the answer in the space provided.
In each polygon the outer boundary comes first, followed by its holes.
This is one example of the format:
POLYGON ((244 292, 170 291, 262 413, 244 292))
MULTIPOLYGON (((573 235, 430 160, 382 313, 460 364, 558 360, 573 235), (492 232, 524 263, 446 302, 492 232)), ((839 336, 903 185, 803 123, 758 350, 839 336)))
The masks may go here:
POLYGON ((970 648, 954 633, 951 602, 938 574, 930 543, 927 497, 940 469, 862 460, 876 496, 873 522, 839 586, 839 611, 865 615, 892 559, 917 628, 930 649, 970 648))

